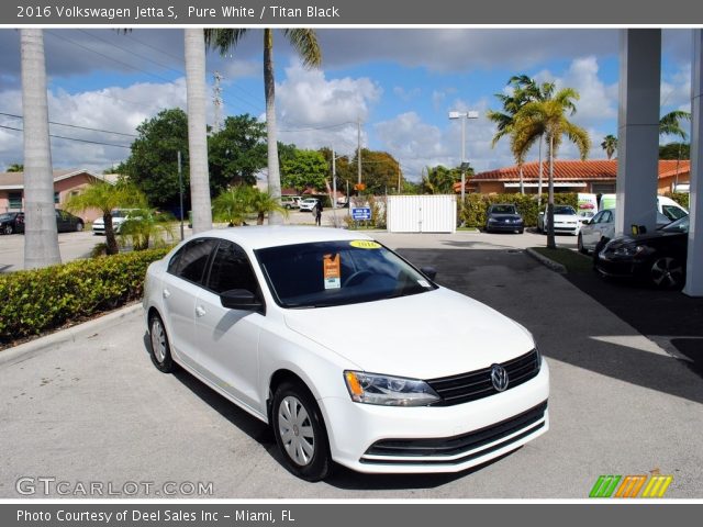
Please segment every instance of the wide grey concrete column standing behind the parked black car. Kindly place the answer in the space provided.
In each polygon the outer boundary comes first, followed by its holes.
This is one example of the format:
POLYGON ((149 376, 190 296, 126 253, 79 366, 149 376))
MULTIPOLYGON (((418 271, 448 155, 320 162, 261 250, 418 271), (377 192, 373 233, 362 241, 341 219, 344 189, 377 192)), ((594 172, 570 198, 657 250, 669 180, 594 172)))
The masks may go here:
POLYGON ((661 30, 621 30, 615 234, 657 224, 661 30))

